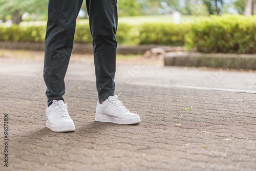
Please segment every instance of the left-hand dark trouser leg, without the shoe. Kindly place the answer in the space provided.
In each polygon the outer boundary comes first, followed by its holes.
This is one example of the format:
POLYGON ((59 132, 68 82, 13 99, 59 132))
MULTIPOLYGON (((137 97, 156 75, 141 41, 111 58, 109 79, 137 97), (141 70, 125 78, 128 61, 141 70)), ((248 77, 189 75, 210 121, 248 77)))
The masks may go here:
POLYGON ((76 18, 82 0, 49 0, 45 38, 44 79, 48 106, 63 100, 66 75, 75 33, 76 18))

